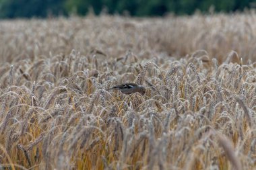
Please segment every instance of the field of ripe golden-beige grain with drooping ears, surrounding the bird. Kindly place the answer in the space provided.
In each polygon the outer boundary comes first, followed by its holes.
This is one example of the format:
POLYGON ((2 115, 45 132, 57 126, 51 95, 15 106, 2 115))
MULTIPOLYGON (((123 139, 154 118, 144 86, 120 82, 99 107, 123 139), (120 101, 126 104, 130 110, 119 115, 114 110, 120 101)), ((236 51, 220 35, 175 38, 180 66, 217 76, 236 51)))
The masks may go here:
POLYGON ((255 44, 253 11, 2 20, 0 169, 256 169, 255 44))

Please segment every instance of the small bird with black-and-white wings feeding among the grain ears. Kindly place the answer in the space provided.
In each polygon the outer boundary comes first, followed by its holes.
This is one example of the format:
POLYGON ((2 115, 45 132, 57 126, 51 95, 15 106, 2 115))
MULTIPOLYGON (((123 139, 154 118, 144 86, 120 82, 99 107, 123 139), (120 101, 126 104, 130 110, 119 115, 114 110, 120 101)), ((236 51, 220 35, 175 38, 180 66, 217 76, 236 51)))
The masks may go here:
POLYGON ((112 90, 112 89, 119 90, 126 95, 136 93, 136 92, 141 93, 141 95, 144 95, 146 93, 145 87, 143 87, 142 85, 137 85, 135 83, 125 83, 122 85, 116 85, 107 90, 112 90))

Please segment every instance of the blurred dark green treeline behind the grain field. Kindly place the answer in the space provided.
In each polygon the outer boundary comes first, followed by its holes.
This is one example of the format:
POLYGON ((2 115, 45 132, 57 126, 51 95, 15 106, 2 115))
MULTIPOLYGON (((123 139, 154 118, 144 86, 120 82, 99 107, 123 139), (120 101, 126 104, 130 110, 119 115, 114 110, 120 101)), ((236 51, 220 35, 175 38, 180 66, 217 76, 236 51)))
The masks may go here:
POLYGON ((132 16, 193 14, 209 9, 219 12, 243 11, 255 7, 256 0, 0 0, 0 17, 47 17, 49 15, 86 15, 94 11, 132 16))

